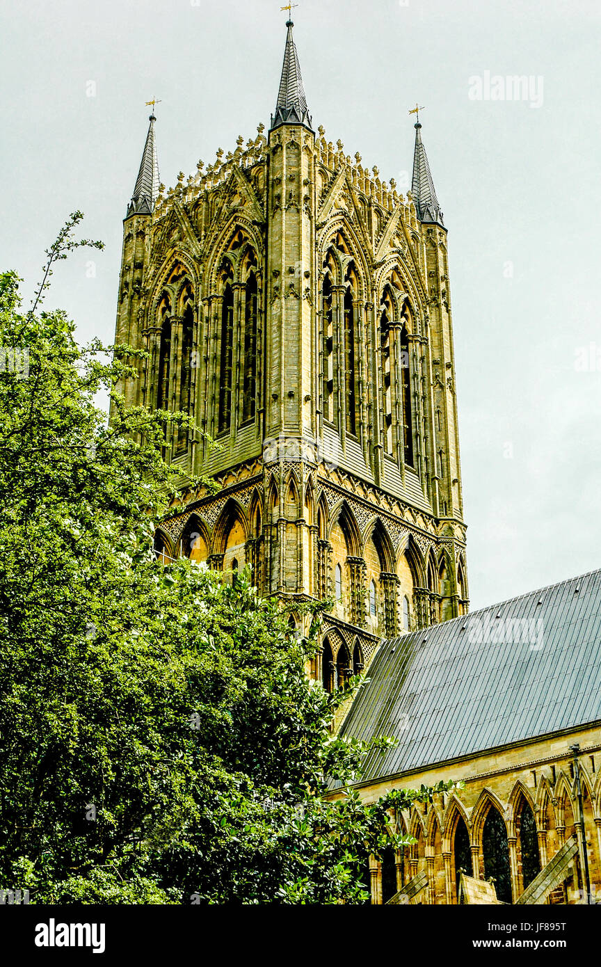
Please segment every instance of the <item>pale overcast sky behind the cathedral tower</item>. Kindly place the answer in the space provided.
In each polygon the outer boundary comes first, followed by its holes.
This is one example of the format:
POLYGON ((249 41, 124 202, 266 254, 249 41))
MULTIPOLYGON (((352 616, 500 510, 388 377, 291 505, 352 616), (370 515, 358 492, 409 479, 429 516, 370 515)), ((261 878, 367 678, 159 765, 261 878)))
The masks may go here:
MULTIPOLYGON (((29 298, 43 250, 81 209, 83 233, 106 249, 60 263, 46 305, 65 308, 82 341, 114 335, 145 102, 161 99, 166 185, 269 127, 280 5, 2 4, 0 268, 25 278, 29 298)), ((405 183, 408 109, 426 105, 449 235, 472 608, 600 567, 601 5, 302 0, 293 17, 315 127, 386 180, 405 183), (530 78, 526 100, 511 97, 512 75, 530 78)))

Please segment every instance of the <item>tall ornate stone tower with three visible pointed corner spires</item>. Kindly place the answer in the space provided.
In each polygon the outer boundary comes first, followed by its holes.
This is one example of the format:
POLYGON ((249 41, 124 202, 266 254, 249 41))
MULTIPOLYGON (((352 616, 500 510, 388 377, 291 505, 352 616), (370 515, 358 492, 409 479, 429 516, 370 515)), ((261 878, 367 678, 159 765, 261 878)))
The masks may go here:
POLYGON ((249 564, 288 601, 331 597, 311 669, 331 689, 383 635, 467 610, 466 528, 446 229, 421 126, 404 197, 313 130, 292 28, 267 137, 259 125, 165 193, 151 116, 116 341, 148 353, 128 403, 195 426, 165 438, 181 513, 157 553, 249 564), (190 485, 199 473, 216 495, 190 485))

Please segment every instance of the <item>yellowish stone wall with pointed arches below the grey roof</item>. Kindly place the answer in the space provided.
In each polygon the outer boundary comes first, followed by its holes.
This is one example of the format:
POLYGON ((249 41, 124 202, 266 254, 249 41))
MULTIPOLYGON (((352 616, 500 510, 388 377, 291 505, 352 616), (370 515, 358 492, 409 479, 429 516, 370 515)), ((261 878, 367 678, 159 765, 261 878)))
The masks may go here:
MULTIPOLYGON (((583 902, 586 894, 583 841, 572 753, 579 743, 579 769, 585 816, 585 843, 593 899, 601 899, 601 728, 590 726, 492 749, 465 760, 444 762, 421 772, 387 777, 360 787, 361 798, 372 802, 390 789, 433 785, 441 779, 463 779, 465 787, 452 794, 437 794, 432 806, 414 806, 396 817, 396 829, 417 840, 390 861, 396 863, 396 886, 402 890, 416 873, 426 870, 427 888, 415 902, 457 902, 458 870, 455 836, 460 823, 467 829, 472 868, 468 875, 487 876, 483 831, 490 810, 497 810, 507 836, 511 902, 525 888, 521 820, 525 806, 534 817, 537 859, 541 868, 571 835, 579 840, 579 855, 564 884, 550 895, 551 903, 583 902)), ((383 864, 373 858, 372 902, 383 902, 383 864)), ((388 871, 389 873, 389 871, 388 871)), ((383 876, 384 874, 384 876, 383 876)), ((386 894, 384 896, 386 899, 386 894)))

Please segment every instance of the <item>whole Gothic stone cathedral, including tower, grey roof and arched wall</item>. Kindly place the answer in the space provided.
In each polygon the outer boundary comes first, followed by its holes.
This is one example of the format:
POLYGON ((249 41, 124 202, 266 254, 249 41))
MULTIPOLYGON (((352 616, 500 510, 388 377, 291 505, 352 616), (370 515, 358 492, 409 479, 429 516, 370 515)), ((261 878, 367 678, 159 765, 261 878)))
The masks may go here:
MULTIPOLYGON (((332 690, 369 667, 336 727, 399 740, 365 799, 464 779, 399 817, 415 845, 372 858, 373 903, 578 902, 601 885, 599 689, 578 691, 557 588, 468 613, 446 228, 418 114, 403 195, 314 129, 286 27, 269 131, 165 190, 153 113, 124 220, 115 341, 146 359, 118 390, 192 427, 165 425, 180 497, 157 556, 249 565, 300 631, 303 602, 332 602, 309 674, 332 690)), ((561 592, 572 624, 601 619, 597 578, 561 592)))

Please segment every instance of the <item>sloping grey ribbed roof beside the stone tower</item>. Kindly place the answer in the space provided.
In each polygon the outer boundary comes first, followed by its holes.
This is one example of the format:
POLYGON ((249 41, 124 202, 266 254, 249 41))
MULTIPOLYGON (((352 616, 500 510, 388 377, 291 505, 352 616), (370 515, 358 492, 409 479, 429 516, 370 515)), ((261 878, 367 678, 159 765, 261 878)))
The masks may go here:
POLYGON ((362 782, 601 720, 601 571, 383 641, 341 734, 362 782))

